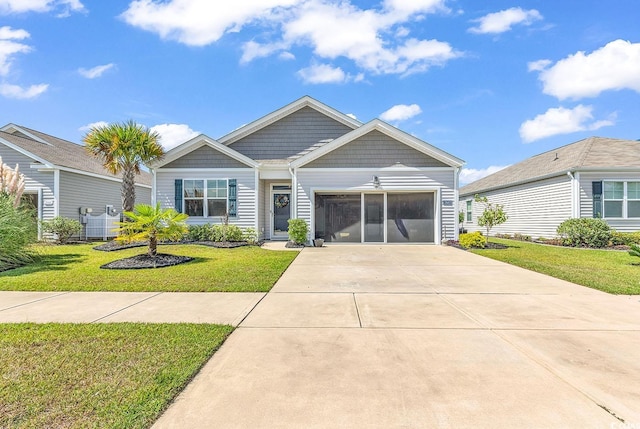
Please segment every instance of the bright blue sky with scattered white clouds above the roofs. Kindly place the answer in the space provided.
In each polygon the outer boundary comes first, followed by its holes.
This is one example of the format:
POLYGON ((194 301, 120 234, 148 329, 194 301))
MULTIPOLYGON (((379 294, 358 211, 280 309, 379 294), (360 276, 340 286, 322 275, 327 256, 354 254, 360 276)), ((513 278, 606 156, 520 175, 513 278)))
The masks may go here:
POLYGON ((0 122, 168 148, 309 95, 467 161, 640 139, 637 0, 0 0, 0 122), (225 5, 223 5, 225 4, 225 5))

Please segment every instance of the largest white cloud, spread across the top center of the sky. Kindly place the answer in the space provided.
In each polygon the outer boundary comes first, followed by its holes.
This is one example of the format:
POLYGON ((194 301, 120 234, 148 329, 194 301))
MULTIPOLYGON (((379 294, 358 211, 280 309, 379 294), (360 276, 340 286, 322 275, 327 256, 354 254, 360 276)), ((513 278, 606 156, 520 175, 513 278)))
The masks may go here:
POLYGON ((446 42, 412 39, 403 27, 427 13, 448 13, 444 3, 385 0, 382 9, 361 9, 349 0, 245 0, 228 5, 208 0, 136 0, 121 17, 163 39, 191 46, 214 43, 247 25, 263 28, 264 34, 244 43, 242 63, 283 52, 287 54, 281 58, 290 59, 292 47, 309 46, 324 62, 344 57, 375 74, 406 75, 462 55, 446 42))

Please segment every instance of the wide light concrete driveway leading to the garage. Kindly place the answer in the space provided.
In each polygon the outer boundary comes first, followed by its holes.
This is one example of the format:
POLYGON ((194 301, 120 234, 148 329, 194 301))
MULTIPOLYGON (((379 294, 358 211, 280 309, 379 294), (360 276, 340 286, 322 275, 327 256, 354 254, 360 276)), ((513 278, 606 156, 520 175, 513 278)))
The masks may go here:
POLYGON ((640 298, 441 246, 307 248, 155 428, 640 428, 640 298))

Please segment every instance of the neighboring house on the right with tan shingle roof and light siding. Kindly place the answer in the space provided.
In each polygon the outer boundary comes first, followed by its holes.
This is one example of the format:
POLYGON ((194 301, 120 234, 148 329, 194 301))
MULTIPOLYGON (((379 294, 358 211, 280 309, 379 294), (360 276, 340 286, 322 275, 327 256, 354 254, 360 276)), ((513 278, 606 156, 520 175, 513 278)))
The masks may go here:
POLYGON ((491 233, 551 238, 569 218, 599 217, 617 231, 640 230, 640 141, 590 137, 531 157, 460 188, 464 228, 482 231, 474 195, 504 205, 491 233))

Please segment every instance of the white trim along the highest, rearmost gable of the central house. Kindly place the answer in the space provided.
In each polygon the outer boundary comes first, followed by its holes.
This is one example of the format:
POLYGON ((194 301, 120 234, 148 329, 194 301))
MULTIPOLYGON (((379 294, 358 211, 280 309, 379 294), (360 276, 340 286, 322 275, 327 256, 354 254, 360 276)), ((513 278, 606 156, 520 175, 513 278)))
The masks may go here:
POLYGON ((351 118, 350 116, 347 116, 337 110, 335 110, 332 107, 327 106, 326 104, 323 104, 311 97, 309 97, 308 95, 287 104, 284 107, 279 108, 278 110, 275 110, 271 113, 269 113, 266 116, 263 116, 260 119, 257 119, 255 121, 250 122, 247 125, 244 125, 238 129, 236 129, 235 131, 232 131, 231 133, 220 137, 219 141, 220 143, 222 143, 223 145, 231 145, 235 142, 237 142, 238 140, 255 133, 256 131, 261 130, 262 128, 273 124, 274 122, 277 122, 278 120, 285 118, 289 115, 291 115, 292 113, 297 112, 298 110, 304 108, 304 107, 311 107, 312 109, 348 126, 349 128, 352 129, 356 129, 358 127, 360 127, 362 125, 362 122, 351 118))

